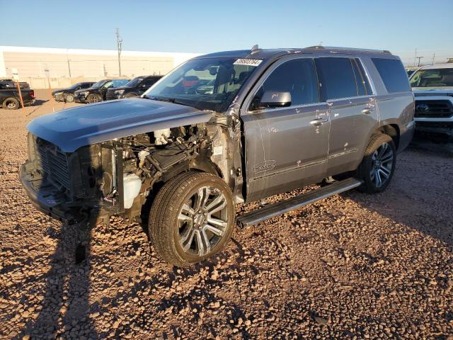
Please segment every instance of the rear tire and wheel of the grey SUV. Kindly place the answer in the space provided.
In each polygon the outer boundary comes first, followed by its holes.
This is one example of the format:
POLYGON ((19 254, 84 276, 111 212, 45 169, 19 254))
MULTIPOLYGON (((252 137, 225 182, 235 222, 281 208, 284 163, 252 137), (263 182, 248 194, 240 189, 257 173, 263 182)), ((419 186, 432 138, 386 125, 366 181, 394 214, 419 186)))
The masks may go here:
POLYGON ((366 193, 384 191, 394 176, 396 148, 389 135, 372 135, 365 155, 358 169, 358 176, 364 183, 360 190, 366 193))

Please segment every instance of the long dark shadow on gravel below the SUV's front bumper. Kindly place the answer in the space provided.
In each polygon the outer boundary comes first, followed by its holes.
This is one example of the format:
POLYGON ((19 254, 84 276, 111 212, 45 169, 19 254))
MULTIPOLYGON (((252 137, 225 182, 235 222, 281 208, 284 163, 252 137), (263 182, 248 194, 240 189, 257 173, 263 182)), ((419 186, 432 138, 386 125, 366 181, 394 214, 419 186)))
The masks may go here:
MULTIPOLYGON (((50 228, 48 234, 57 241, 50 256, 51 267, 46 274, 42 292, 42 309, 33 324, 27 324, 21 336, 31 339, 76 338, 84 334, 97 339, 90 309, 90 231, 75 225, 62 224, 59 231, 50 228)), ((19 338, 22 339, 22 338, 19 338)), ((79 337, 80 339, 80 337, 79 337)))

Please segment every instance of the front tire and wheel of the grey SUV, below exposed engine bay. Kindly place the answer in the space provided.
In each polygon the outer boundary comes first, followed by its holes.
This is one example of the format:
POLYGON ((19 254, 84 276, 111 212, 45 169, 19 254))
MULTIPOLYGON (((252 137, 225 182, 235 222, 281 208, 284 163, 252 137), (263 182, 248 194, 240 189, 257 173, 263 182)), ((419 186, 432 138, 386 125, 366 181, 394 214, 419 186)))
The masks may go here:
POLYGON ((190 266, 224 249, 235 215, 231 190, 222 179, 188 171, 165 183, 154 198, 149 237, 162 259, 175 266, 190 266), (211 205, 213 212, 206 213, 211 205), (198 213, 202 210, 204 214, 198 213), (210 225, 212 222, 215 224, 210 225), (211 229, 216 229, 215 233, 211 229))

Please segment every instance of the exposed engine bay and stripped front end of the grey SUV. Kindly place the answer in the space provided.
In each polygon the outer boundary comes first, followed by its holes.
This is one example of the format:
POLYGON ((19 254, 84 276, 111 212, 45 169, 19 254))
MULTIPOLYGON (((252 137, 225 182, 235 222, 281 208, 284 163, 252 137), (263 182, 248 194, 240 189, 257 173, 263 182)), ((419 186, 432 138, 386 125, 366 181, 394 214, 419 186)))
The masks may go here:
POLYGON ((231 118, 214 114, 208 123, 140 133, 69 153, 30 134, 30 162, 22 176, 52 207, 46 208, 49 215, 60 220, 93 225, 120 215, 140 222, 145 203, 161 183, 183 171, 216 174, 231 189, 241 184, 234 130, 231 118))

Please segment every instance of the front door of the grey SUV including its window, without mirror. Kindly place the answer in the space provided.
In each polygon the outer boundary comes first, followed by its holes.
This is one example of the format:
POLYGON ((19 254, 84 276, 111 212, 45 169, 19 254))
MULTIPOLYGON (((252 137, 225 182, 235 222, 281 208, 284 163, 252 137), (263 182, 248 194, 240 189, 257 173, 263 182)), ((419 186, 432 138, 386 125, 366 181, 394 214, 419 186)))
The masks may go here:
POLYGON ((319 102, 314 60, 280 60, 252 94, 241 113, 247 202, 321 181, 327 172, 330 119, 327 103, 319 102), (290 106, 256 108, 265 91, 289 92, 290 106))

